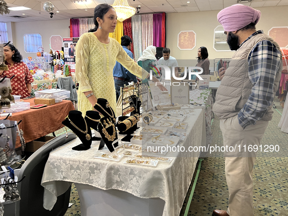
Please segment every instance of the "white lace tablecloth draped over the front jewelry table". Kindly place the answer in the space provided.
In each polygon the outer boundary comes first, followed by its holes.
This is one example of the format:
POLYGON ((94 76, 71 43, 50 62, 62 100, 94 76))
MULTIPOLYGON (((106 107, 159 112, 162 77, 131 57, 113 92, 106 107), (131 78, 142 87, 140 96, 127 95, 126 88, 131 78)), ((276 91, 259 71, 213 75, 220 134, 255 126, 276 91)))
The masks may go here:
MULTIPOLYGON (((205 145, 204 110, 195 110, 185 121, 189 122, 189 135, 179 145, 186 150, 189 146, 205 145)), ((103 190, 126 191, 140 198, 159 197, 165 201, 163 216, 179 215, 199 152, 180 152, 171 163, 159 162, 157 167, 148 167, 123 164, 127 157, 119 162, 93 158, 99 141, 93 141, 91 149, 87 151, 72 150, 79 143, 78 138, 74 139, 50 153, 41 182, 45 188, 45 209, 51 210, 57 196, 76 182, 103 190)))

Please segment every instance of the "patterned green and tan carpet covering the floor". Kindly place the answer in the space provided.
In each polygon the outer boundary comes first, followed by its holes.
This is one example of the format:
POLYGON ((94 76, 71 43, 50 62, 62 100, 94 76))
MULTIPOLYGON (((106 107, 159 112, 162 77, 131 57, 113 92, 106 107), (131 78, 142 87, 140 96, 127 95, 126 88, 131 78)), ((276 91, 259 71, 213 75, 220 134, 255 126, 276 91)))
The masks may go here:
MULTIPOLYGON (((282 113, 283 108, 275 102, 276 109, 282 113)), ((278 144, 280 150, 288 148, 288 134, 277 127, 281 115, 274 110, 273 119, 269 122, 262 144, 278 144)), ((62 130, 63 133, 65 130, 62 130)), ((219 118, 212 124, 213 145, 223 144, 223 137, 219 128, 219 118)), ((192 183, 184 200, 180 216, 184 216, 187 202, 191 195, 192 184, 197 172, 198 164, 192 183)), ((255 216, 286 216, 288 215, 288 157, 257 157, 254 165, 253 205, 255 216)), ((228 187, 225 177, 223 157, 206 157, 202 161, 188 216, 211 216, 214 209, 226 210, 228 207, 228 187)), ((77 189, 72 185, 70 202, 65 216, 80 216, 80 203, 77 189)))

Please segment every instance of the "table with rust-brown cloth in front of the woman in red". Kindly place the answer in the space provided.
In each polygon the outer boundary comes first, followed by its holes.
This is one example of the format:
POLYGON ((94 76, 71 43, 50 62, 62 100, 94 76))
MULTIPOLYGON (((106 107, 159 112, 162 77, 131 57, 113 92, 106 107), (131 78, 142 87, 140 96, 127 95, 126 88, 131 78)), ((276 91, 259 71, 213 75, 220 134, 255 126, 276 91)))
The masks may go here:
MULTIPOLYGON (((24 102, 30 102, 30 106, 35 105, 34 98, 24 102)), ((73 103, 70 100, 63 100, 51 106, 13 113, 8 119, 22 120, 19 130, 22 129, 24 132, 25 141, 30 142, 64 127, 61 122, 71 110, 74 110, 73 103)), ((19 141, 16 143, 16 148, 18 147, 20 147, 19 141)))

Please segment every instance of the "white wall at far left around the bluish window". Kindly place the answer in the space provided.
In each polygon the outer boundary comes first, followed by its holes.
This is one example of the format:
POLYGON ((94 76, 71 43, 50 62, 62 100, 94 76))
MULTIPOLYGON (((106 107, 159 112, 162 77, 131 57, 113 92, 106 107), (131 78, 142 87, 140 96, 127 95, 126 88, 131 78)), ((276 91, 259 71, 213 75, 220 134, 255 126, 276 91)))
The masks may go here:
MULTIPOLYGON (((14 22, 15 25, 15 41, 14 44, 19 50, 23 58, 36 58, 36 53, 26 53, 24 51, 23 36, 24 34, 39 33, 42 36, 42 46, 44 52, 50 52, 50 37, 52 35, 60 35, 62 38, 70 38, 70 20, 47 20, 47 21, 31 21, 31 22, 14 22)), ((8 37, 9 38, 9 37, 8 37)))

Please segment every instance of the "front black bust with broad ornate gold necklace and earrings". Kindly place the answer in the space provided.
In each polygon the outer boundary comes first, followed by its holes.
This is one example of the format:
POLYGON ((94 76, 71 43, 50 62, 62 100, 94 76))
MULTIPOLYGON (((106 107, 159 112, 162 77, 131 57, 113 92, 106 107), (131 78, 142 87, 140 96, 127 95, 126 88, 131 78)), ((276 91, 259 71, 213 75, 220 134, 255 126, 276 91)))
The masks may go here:
POLYGON ((114 143, 113 145, 112 143, 118 138, 118 136, 112 118, 101 118, 98 124, 98 132, 100 133, 109 151, 113 152, 114 148, 118 146, 118 142, 114 143))

